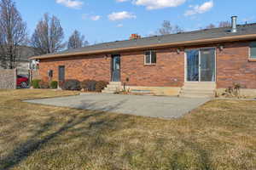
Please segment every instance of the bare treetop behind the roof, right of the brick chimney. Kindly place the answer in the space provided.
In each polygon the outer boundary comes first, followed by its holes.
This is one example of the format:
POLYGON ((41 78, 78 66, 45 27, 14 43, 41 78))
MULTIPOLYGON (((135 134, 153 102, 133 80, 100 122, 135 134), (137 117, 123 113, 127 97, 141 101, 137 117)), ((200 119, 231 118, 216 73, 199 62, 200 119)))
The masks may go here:
POLYGON ((164 20, 162 27, 157 31, 157 34, 166 35, 166 34, 174 34, 177 32, 183 32, 183 29, 179 26, 172 26, 169 20, 164 20))

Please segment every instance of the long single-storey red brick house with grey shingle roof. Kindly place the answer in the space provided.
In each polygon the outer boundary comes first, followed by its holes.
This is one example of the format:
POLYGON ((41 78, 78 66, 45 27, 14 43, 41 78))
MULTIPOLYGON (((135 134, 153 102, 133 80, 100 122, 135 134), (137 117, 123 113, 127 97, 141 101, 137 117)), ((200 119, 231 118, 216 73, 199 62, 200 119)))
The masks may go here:
POLYGON ((132 35, 107 42, 35 56, 39 74, 57 81, 95 79, 121 88, 159 95, 209 96, 239 83, 256 94, 256 24, 189 31, 165 36, 132 35))

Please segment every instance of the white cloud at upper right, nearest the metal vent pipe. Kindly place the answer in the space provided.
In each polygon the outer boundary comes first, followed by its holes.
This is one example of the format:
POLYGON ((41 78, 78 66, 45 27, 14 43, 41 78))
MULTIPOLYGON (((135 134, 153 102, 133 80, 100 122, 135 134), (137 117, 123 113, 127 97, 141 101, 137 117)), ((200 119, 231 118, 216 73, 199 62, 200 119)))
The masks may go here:
POLYGON ((209 11, 212 7, 213 7, 213 1, 209 1, 206 3, 203 3, 201 5, 195 5, 195 6, 190 6, 190 10, 187 10, 185 12, 185 16, 190 16, 193 14, 203 14, 206 13, 207 11, 209 11))

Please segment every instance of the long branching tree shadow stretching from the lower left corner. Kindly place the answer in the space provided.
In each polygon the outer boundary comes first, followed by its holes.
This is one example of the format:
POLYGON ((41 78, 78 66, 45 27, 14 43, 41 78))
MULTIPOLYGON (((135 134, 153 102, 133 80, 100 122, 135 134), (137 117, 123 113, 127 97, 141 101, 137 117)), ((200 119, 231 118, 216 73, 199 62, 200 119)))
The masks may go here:
MULTIPOLYGON (((51 139, 55 139, 58 135, 61 135, 61 133, 67 132, 67 130, 70 130, 72 127, 75 127, 85 121, 87 121, 90 117, 99 117, 104 114, 106 114, 106 111, 113 111, 113 109, 116 109, 119 107, 119 105, 122 105, 125 103, 125 100, 120 101, 116 105, 111 105, 106 108, 104 108, 104 111, 95 111, 90 115, 85 116, 77 116, 72 115, 71 118, 62 125, 58 130, 56 130, 53 133, 49 133, 48 135, 41 137, 43 133, 47 133, 51 128, 55 125, 55 118, 54 116, 49 117, 47 122, 44 122, 40 126, 40 129, 32 136, 30 139, 27 139, 26 142, 19 144, 14 150, 11 151, 11 153, 8 156, 4 156, 0 159, 0 169, 1 170, 8 170, 12 167, 15 167, 15 165, 19 164, 21 161, 25 160, 28 156, 31 156, 33 152, 36 150, 40 150, 42 146, 49 142, 51 139)), ((81 104, 81 105, 86 105, 81 104)), ((86 105, 86 107, 93 107, 95 104, 86 105)), ((118 117, 115 117, 114 119, 117 119, 118 117)), ((114 120, 108 120, 108 119, 102 119, 98 122, 91 122, 89 128, 91 127, 98 127, 98 130, 101 130, 102 125, 108 124, 109 122, 114 122, 114 120)), ((105 126, 104 126, 105 127, 105 126)), ((76 129, 79 130, 79 129, 76 129)), ((99 141, 96 141, 98 143, 99 141)))

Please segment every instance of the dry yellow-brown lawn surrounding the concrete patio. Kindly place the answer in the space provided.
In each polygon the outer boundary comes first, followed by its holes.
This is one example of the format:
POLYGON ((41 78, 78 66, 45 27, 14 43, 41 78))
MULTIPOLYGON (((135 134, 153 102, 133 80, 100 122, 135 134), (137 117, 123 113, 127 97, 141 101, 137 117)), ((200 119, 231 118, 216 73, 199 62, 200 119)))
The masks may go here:
POLYGON ((256 169, 256 101, 214 100, 180 119, 33 105, 75 92, 0 91, 0 169, 256 169))

